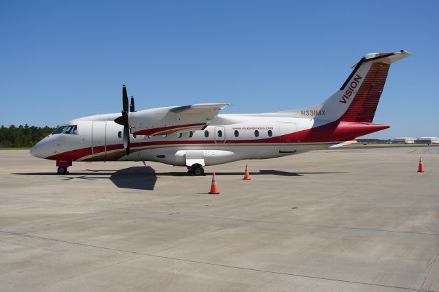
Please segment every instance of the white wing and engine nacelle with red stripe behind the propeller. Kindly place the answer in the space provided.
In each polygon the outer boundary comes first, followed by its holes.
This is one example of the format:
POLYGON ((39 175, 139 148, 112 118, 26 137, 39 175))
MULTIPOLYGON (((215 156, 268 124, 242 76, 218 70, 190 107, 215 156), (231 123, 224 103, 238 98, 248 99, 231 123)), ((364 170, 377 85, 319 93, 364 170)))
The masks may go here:
POLYGON ((132 112, 129 123, 132 134, 167 135, 202 130, 223 108, 230 104, 192 104, 152 108, 132 112))

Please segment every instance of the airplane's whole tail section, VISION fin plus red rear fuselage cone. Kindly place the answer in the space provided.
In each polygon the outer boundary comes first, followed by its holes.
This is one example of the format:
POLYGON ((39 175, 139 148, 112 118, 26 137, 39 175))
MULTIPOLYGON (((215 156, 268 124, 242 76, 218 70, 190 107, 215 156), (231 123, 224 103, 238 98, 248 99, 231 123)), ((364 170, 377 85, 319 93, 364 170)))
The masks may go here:
POLYGON ((353 66, 340 90, 317 106, 289 112, 290 117, 313 119, 314 124, 301 142, 351 141, 359 136, 387 129, 372 123, 383 92, 390 64, 410 56, 395 53, 368 53, 353 66))

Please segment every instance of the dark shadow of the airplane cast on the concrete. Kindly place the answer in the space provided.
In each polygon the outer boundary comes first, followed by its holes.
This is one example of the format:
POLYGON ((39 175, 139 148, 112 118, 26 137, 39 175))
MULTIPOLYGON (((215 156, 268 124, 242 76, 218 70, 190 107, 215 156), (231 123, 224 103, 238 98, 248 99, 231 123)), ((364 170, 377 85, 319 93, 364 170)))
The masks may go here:
MULTIPOLYGON (((344 172, 288 172, 276 169, 261 169, 259 172, 250 172, 250 175, 280 175, 280 176, 303 176, 307 174, 327 174, 344 172)), ((54 172, 36 173, 11 173, 13 175, 56 175, 54 172)), ((215 172, 216 175, 244 175, 241 171, 237 172, 215 172)), ((212 173, 205 173, 212 175, 212 173)), ((158 176, 187 176, 185 171, 160 172, 157 173, 152 167, 128 167, 126 169, 113 170, 91 170, 73 171, 68 175, 60 175, 62 181, 67 180, 110 180, 118 188, 130 188, 136 190, 154 190, 158 176)))

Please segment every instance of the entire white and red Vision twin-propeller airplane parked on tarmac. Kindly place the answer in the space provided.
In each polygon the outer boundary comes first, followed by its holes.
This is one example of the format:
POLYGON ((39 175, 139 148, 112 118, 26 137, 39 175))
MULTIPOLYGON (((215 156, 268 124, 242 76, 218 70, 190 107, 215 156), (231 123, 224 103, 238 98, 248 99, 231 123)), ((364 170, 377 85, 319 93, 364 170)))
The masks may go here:
POLYGON ((372 123, 390 64, 411 54, 368 53, 339 90, 316 106, 259 114, 219 114, 230 104, 192 104, 136 111, 122 88, 121 114, 97 114, 63 123, 30 154, 56 160, 65 175, 73 161, 154 161, 187 167, 301 154, 339 147, 387 129, 372 123))

